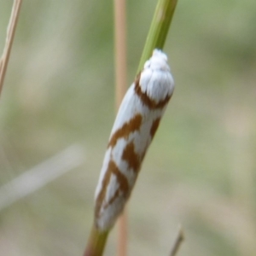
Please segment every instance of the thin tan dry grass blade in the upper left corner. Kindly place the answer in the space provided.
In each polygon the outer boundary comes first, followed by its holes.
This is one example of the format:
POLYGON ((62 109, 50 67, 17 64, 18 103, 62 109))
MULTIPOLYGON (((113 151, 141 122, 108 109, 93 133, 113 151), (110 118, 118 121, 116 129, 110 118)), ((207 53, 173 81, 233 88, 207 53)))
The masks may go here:
POLYGON ((3 81, 7 70, 10 51, 15 38, 15 29, 18 23, 22 0, 15 0, 13 4, 12 13, 9 19, 9 26, 7 29, 6 43, 3 49, 3 55, 0 60, 0 96, 3 89, 3 81))

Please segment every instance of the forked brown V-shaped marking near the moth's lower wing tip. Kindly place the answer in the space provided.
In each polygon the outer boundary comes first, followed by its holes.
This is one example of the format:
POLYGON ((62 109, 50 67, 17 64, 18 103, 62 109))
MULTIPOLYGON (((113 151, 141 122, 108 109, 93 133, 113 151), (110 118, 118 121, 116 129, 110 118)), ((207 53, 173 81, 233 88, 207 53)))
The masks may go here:
POLYGON ((110 160, 108 163, 107 172, 105 173, 105 176, 102 181, 102 189, 96 198, 96 207, 95 207, 96 218, 98 218, 100 215, 102 204, 105 200, 108 184, 110 182, 110 178, 112 174, 115 175, 117 178, 117 181, 119 183, 119 189, 117 189, 113 197, 108 202, 106 202, 106 205, 104 206, 104 208, 107 208, 119 196, 121 192, 123 192, 123 196, 125 198, 129 196, 129 184, 128 184, 127 178, 122 172, 119 171, 119 168, 118 166, 116 166, 115 162, 113 160, 110 160))

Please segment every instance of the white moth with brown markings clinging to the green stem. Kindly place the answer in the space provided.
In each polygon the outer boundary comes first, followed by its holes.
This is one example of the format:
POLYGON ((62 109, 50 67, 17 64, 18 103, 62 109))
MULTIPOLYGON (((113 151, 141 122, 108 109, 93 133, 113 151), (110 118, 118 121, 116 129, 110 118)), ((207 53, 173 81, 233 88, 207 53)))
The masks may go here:
POLYGON ((98 230, 109 230, 123 211, 173 89, 167 56, 154 49, 126 92, 113 124, 96 187, 98 230))

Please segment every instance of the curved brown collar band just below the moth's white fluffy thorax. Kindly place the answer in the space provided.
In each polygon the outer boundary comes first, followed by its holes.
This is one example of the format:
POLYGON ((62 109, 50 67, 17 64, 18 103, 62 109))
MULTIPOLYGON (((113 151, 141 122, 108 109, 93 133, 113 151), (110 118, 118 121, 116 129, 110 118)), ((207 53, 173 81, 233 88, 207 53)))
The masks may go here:
POLYGON ((154 100, 150 99, 150 97, 147 96, 146 93, 144 93, 141 90, 140 86, 140 78, 141 73, 137 75, 137 78, 135 80, 135 92, 137 93, 137 96, 141 99, 144 105, 146 105, 149 109, 156 109, 156 108, 164 108, 166 106, 166 103, 169 102, 172 95, 167 95, 165 99, 163 99, 160 102, 155 102, 154 100))

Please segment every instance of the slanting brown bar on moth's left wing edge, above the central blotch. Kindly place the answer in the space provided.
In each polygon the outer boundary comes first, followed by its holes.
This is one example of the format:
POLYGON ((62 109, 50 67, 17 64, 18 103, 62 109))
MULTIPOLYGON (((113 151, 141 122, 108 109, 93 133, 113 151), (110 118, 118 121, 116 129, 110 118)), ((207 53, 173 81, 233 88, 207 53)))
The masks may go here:
POLYGON ((137 113, 132 119, 113 133, 113 136, 109 140, 108 147, 114 147, 120 137, 127 139, 131 132, 138 131, 142 121, 143 116, 140 113, 137 113))

